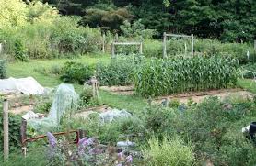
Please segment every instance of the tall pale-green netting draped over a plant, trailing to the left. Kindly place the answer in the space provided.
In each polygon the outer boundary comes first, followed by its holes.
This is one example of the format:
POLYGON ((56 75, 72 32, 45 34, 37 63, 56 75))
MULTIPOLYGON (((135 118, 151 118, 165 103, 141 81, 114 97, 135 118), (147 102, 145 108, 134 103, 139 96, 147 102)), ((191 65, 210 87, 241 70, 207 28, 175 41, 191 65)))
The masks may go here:
POLYGON ((46 132, 52 127, 58 126, 66 111, 76 109, 78 97, 72 84, 60 84, 53 96, 49 115, 41 119, 29 119, 29 127, 36 131, 46 132))

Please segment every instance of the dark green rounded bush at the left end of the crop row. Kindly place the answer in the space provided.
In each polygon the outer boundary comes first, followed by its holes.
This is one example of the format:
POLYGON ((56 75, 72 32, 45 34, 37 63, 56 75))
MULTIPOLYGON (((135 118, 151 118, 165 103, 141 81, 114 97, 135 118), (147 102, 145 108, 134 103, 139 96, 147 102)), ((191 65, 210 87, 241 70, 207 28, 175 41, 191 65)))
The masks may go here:
POLYGON ((67 61, 64 63, 63 75, 61 79, 64 82, 83 84, 88 81, 94 74, 92 66, 82 64, 75 61, 67 61))

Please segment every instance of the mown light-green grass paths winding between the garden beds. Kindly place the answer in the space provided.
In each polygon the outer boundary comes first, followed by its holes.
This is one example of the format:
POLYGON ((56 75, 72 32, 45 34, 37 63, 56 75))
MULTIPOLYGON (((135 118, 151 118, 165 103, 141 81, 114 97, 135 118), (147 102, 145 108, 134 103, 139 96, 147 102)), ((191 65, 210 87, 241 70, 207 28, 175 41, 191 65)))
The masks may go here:
MULTIPOLYGON (((35 69, 39 68, 51 68, 53 65, 63 65, 65 61, 70 59, 54 59, 54 60, 30 60, 29 62, 15 62, 8 64, 7 75, 9 77, 21 78, 21 77, 34 77, 41 85, 46 87, 55 87, 62 81, 58 77, 48 76, 35 69)), ((94 64, 99 61, 109 62, 111 61, 108 55, 90 55, 83 56, 73 61, 79 61, 87 64, 94 64)), ((74 84, 76 92, 79 94, 83 86, 74 84)), ((131 95, 118 95, 111 94, 107 91, 99 92, 99 100, 101 103, 116 107, 119 109, 127 109, 130 111, 141 111, 146 105, 145 99, 131 95)))

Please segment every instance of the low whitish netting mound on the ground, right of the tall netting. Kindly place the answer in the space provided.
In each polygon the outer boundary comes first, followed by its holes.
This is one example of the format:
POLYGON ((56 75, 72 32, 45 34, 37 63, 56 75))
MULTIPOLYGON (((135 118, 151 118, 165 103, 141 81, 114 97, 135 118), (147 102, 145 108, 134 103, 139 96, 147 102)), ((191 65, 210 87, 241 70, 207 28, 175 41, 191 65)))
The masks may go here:
POLYGON ((112 109, 110 111, 99 114, 99 121, 101 123, 111 123, 114 120, 122 118, 129 118, 132 115, 125 110, 112 109))

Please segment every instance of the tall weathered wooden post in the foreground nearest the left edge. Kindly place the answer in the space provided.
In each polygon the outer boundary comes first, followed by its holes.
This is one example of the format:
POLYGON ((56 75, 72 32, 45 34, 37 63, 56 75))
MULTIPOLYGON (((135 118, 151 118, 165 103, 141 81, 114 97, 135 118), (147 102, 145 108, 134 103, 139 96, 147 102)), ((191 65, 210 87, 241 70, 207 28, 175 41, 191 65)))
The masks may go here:
POLYGON ((9 157, 9 120, 8 120, 8 101, 4 100, 3 105, 3 122, 4 122, 4 159, 9 157))

